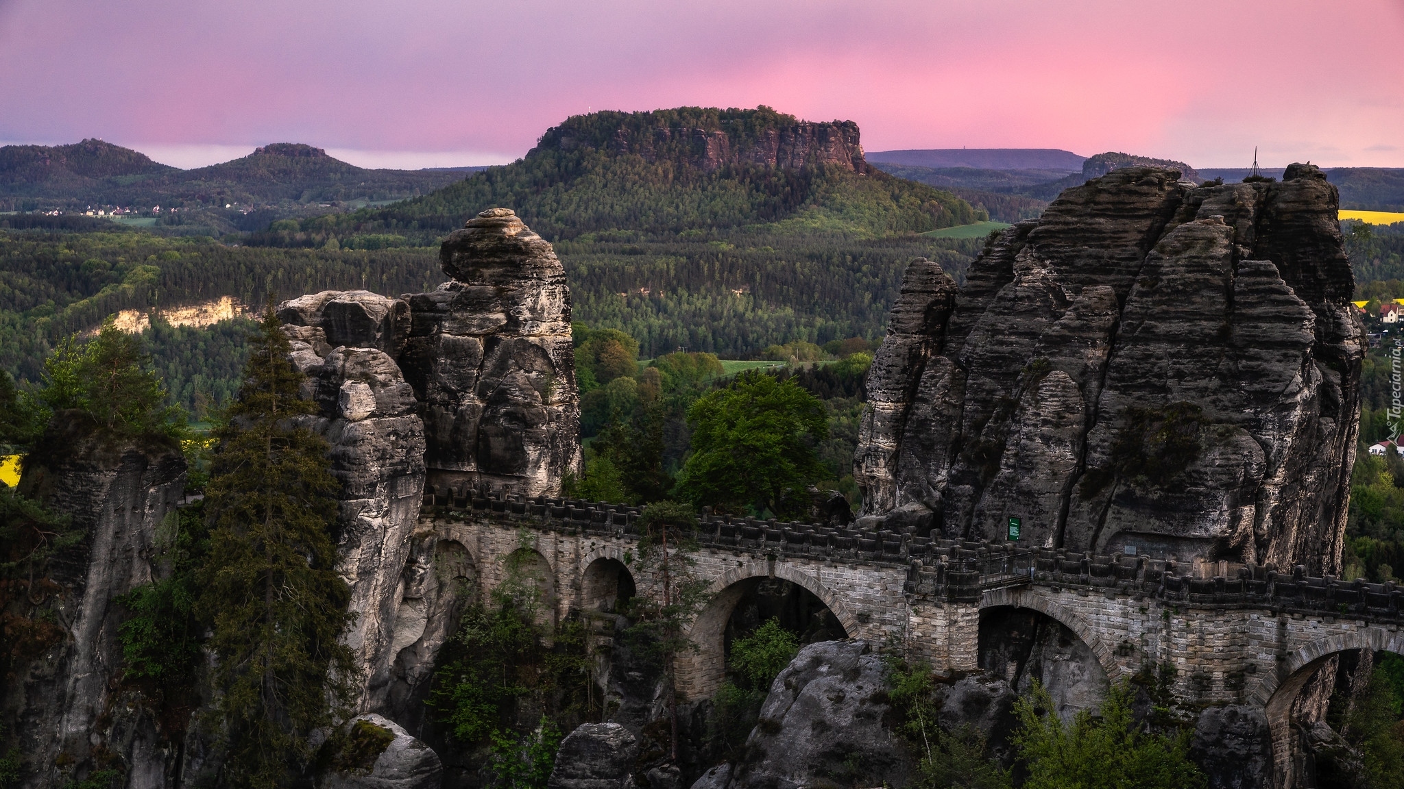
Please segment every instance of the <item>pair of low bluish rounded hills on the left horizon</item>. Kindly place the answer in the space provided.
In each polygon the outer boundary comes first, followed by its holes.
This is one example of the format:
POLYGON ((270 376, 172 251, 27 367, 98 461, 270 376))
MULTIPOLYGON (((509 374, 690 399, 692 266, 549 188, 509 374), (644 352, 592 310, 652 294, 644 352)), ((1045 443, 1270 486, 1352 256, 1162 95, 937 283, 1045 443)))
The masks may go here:
POLYGON ((88 139, 52 147, 0 147, 0 211, 122 206, 149 212, 160 205, 167 218, 173 208, 177 215, 202 212, 202 220, 232 230, 254 209, 264 212, 260 219, 267 225, 270 216, 295 215, 309 204, 395 201, 462 178, 459 171, 366 170, 298 143, 268 145, 243 159, 180 170, 88 139))

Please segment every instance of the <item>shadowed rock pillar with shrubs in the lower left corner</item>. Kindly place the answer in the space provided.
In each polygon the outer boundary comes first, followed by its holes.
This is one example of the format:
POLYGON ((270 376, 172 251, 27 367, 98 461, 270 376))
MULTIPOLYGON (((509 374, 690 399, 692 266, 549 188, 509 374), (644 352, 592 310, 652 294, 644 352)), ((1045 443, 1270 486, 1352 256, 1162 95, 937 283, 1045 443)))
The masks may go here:
MULTIPOLYGON (((6 719, 25 758, 20 786, 81 779, 104 755, 153 785, 164 779, 170 744, 157 722, 139 705, 118 703, 126 612, 115 598, 168 570, 161 541, 173 539, 167 517, 184 487, 185 459, 174 442, 108 439, 72 413, 55 417, 27 459, 20 491, 66 515, 81 536, 25 592, 31 621, 55 625, 51 637, 7 629, 7 639, 24 633, 42 646, 11 664, 15 677, 4 684, 6 719)), ((20 646, 7 644, 11 658, 21 657, 13 651, 20 646)))

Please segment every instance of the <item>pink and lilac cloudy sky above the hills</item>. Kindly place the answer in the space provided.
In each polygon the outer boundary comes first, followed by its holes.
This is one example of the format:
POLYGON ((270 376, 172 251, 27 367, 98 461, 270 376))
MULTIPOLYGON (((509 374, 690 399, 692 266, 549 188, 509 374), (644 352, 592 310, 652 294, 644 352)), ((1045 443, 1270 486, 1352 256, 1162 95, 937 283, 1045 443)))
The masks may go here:
POLYGON ((588 110, 768 104, 868 150, 1404 167, 1404 0, 0 0, 0 142, 510 161, 588 110))

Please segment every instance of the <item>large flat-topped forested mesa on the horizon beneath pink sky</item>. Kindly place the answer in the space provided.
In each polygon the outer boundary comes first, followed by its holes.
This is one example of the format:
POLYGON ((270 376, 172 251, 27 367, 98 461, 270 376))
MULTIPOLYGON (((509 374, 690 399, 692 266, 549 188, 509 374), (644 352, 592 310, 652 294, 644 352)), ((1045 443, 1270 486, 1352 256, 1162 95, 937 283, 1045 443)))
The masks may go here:
POLYGON ((550 240, 743 229, 880 237, 986 219, 951 192, 868 166, 852 122, 684 107, 576 115, 512 164, 382 209, 279 223, 257 241, 399 234, 431 243, 491 206, 514 209, 550 240))

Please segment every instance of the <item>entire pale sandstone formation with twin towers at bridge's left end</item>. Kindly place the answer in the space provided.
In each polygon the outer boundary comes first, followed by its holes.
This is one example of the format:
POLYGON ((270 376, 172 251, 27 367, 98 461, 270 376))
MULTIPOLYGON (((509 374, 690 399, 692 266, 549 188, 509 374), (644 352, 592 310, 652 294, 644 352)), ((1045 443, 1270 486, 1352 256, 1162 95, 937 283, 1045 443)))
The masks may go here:
POLYGON ((417 717, 452 635, 463 557, 416 533, 427 484, 556 496, 580 463, 570 291, 550 244, 511 211, 442 244, 452 279, 399 299, 326 291, 278 307, 307 375, 306 417, 341 480, 338 571, 365 675, 362 710, 417 717))

